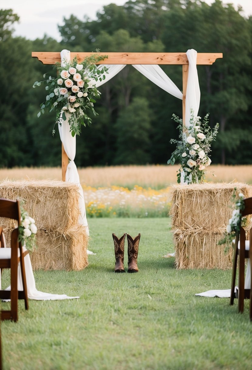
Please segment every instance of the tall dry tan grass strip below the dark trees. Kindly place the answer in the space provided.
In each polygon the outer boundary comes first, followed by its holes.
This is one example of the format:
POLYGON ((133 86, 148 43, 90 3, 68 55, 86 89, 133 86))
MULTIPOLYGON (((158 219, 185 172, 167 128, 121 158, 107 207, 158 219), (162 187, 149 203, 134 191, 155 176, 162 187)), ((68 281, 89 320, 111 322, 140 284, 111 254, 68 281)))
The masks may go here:
MULTIPOLYGON (((134 185, 143 188, 163 189, 177 182, 179 166, 111 166, 79 169, 80 181, 85 186, 118 185, 132 189, 134 185)), ((243 182, 252 185, 252 165, 222 166, 211 165, 206 174, 208 182, 243 182), (212 175, 214 174, 214 176, 212 175)), ((0 169, 0 181, 27 178, 61 180, 61 168, 12 168, 0 169)))

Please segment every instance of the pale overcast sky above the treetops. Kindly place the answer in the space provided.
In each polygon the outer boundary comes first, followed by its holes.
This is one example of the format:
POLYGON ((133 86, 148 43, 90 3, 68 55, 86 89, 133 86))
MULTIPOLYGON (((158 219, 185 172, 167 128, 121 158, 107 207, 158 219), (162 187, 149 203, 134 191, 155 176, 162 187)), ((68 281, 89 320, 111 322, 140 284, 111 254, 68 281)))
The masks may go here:
MULTIPOLYGON (((14 24, 16 36, 23 36, 30 40, 48 36, 60 41, 58 24, 63 24, 63 17, 68 18, 74 14, 78 19, 84 16, 95 20, 96 12, 102 10, 104 5, 115 3, 123 5, 127 0, 1 0, 1 9, 13 9, 20 17, 19 24, 14 24), (4 4, 3 4, 4 2, 4 4)), ((213 3, 214 0, 205 0, 213 3)), ((252 15, 252 0, 223 0, 223 3, 233 3, 235 9, 238 4, 244 9, 244 16, 252 15)))

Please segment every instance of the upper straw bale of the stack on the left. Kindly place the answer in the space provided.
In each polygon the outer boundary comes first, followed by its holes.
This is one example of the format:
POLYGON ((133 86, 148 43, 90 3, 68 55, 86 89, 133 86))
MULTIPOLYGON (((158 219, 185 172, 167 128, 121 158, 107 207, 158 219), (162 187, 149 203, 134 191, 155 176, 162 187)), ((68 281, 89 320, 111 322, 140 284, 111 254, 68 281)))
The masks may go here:
MULTIPOLYGON (((21 180, 0 184, 0 198, 24 199, 24 209, 35 219, 38 229, 64 233, 78 223, 78 186, 63 181, 21 180)), ((10 221, 1 220, 6 227, 10 221)))

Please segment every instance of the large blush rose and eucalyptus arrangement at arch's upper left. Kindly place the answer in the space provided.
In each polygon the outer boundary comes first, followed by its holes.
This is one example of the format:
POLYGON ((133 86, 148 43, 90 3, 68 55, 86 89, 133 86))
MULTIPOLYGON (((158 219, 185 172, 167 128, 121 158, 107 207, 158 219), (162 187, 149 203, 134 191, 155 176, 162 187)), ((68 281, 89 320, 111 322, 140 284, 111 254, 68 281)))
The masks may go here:
MULTIPOLYGON (((45 85, 47 91, 46 100, 40 104, 40 111, 44 114, 45 109, 49 112, 55 110, 57 117, 55 125, 61 125, 61 117, 65 121, 68 116, 69 129, 72 136, 79 135, 81 126, 91 124, 92 120, 89 117, 89 111, 94 115, 98 115, 93 108, 96 102, 95 98, 101 95, 101 92, 96 88, 96 81, 105 79, 105 73, 108 71, 104 65, 97 67, 95 63, 107 58, 106 55, 96 54, 86 57, 82 63, 78 63, 75 57, 67 63, 63 60, 64 67, 61 63, 55 63, 58 71, 58 77, 52 78, 49 76, 47 80, 36 81, 33 87, 45 85)), ((43 75, 45 78, 46 74, 43 75)), ((52 135, 55 134, 55 129, 52 130, 52 135)))

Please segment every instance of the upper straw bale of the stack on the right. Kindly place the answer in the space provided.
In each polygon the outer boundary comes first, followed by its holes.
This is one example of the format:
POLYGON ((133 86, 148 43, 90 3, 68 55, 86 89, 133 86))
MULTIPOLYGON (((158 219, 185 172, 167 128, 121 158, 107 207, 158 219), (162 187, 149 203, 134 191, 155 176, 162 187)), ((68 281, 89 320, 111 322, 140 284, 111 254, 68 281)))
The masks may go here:
POLYGON ((243 193, 251 196, 251 187, 239 182, 231 184, 173 185, 173 229, 206 229, 227 225, 232 215, 231 197, 243 193))

